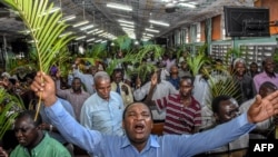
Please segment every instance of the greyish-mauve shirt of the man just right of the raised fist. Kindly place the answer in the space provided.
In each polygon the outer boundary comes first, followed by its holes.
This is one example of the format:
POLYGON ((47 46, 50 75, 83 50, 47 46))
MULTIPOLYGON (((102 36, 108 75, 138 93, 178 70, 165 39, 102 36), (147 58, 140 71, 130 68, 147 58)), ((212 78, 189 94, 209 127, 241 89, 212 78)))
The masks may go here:
POLYGON ((75 110, 75 115, 78 121, 80 121, 80 112, 81 112, 81 108, 83 106, 85 100, 87 100, 90 97, 89 92, 86 92, 83 90, 81 90, 80 94, 73 92, 72 89, 66 89, 66 90, 61 90, 60 88, 60 80, 56 81, 56 94, 57 96, 68 100, 70 102, 70 105, 72 106, 73 110, 75 110))

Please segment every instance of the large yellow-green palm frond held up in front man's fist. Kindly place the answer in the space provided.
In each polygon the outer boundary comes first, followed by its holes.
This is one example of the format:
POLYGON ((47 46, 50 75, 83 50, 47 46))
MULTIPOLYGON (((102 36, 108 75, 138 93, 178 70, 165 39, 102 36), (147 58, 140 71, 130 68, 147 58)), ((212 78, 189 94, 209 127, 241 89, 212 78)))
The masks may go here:
MULTIPOLYGON (((69 38, 69 35, 59 38, 67 28, 64 22, 60 22, 61 12, 49 13, 53 3, 49 4, 48 0, 2 0, 2 2, 18 11, 26 27, 30 30, 38 52, 39 69, 48 73, 56 53, 72 39, 69 38)), ((40 102, 38 111, 39 109, 40 102)))

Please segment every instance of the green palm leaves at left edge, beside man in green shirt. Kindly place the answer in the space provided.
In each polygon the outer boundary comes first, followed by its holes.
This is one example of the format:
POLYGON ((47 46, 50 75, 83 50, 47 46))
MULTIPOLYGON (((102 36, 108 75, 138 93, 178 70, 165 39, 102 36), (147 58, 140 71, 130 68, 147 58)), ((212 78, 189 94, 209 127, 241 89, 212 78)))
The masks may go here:
POLYGON ((18 114, 24 109, 21 99, 9 95, 3 88, 0 88, 0 139, 2 139, 8 129, 11 129, 18 114))

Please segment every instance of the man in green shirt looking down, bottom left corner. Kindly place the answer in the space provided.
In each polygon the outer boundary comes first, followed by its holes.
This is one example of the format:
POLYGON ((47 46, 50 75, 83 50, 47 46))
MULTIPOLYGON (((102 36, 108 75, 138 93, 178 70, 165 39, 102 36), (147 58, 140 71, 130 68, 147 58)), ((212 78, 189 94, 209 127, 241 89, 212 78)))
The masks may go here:
POLYGON ((20 112, 14 121, 14 133, 19 145, 10 157, 71 157, 70 153, 56 139, 41 130, 41 117, 36 119, 33 110, 20 112))

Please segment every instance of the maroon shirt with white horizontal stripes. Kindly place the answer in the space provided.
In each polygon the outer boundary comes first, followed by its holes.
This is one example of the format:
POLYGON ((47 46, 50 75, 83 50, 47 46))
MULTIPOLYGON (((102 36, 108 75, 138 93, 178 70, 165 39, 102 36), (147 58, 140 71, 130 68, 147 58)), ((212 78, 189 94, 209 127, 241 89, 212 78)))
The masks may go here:
POLYGON ((201 106, 191 97, 191 104, 183 107, 180 95, 169 95, 156 100, 159 109, 166 108, 163 134, 192 134, 201 126, 201 106))

